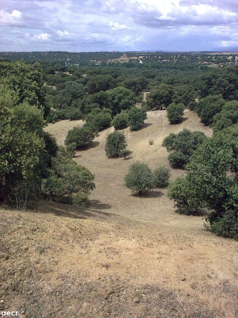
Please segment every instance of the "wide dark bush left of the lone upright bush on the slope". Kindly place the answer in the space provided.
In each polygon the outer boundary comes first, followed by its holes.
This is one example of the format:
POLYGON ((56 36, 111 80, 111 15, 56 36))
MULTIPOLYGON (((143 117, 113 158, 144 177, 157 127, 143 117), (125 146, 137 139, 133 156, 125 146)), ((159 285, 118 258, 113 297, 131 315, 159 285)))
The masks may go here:
POLYGON ((69 130, 64 143, 66 146, 70 143, 75 143, 77 149, 82 149, 83 147, 91 144, 94 138, 95 133, 87 127, 74 127, 69 130))

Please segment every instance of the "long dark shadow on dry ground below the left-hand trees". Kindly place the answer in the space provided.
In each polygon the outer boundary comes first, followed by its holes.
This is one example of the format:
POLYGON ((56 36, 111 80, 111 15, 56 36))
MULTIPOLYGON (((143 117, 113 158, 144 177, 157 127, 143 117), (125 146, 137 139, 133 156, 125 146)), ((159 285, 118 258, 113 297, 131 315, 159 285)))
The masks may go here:
POLYGON ((99 200, 91 200, 88 208, 80 208, 74 205, 50 201, 41 201, 36 209, 29 210, 29 212, 54 214, 56 216, 74 219, 87 219, 90 217, 106 218, 107 216, 114 215, 113 213, 103 211, 105 209, 110 209, 111 207, 111 205, 101 203, 99 200))

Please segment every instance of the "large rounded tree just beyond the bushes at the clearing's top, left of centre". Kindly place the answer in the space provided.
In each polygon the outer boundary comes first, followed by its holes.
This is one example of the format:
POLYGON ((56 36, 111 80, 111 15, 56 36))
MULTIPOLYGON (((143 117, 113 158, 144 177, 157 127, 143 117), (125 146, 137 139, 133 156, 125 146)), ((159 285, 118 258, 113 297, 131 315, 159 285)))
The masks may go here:
POLYGON ((106 92, 108 97, 108 107, 112 114, 116 115, 122 110, 131 108, 136 104, 136 95, 125 87, 116 87, 106 92))

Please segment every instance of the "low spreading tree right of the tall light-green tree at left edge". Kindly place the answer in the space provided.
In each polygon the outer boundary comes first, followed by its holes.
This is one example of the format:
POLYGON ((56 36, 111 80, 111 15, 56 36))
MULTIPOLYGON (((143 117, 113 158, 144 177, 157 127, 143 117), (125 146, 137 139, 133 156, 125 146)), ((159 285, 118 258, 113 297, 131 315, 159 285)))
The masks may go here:
POLYGON ((44 196, 50 196, 53 201, 79 205, 95 189, 93 180, 94 176, 88 169, 77 165, 64 149, 60 149, 53 158, 52 167, 48 176, 42 180, 41 187, 44 196), (85 195, 84 199, 82 193, 85 195))

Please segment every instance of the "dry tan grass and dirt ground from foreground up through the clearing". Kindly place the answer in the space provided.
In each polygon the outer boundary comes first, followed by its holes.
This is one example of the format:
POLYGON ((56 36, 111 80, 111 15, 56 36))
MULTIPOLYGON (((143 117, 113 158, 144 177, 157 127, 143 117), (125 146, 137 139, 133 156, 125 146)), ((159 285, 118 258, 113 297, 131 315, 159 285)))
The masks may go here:
MULTIPOLYGON (((46 130, 63 144, 75 124, 82 122, 46 130)), ((136 160, 168 167, 162 140, 183 128, 212 134, 188 110, 179 125, 154 111, 142 130, 124 129, 129 159, 105 156, 113 128, 77 152, 75 161, 95 174, 89 209, 42 202, 25 212, 1 211, 2 310, 30 318, 238 317, 238 243, 207 232, 202 217, 176 214, 166 190, 137 197, 123 187, 136 160)), ((182 173, 172 170, 171 179, 182 173)))

